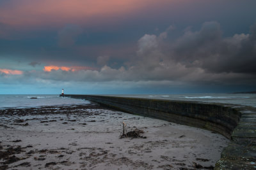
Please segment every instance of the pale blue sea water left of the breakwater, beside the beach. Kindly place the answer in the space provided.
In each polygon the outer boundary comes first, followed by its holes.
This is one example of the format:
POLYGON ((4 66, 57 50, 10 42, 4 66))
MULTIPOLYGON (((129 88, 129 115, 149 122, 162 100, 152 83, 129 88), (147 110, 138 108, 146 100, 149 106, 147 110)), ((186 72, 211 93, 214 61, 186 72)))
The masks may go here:
POLYGON ((6 108, 32 108, 40 106, 67 106, 74 104, 90 104, 83 99, 59 97, 59 95, 0 95, 0 109, 6 108), (37 97, 37 99, 31 99, 37 97))

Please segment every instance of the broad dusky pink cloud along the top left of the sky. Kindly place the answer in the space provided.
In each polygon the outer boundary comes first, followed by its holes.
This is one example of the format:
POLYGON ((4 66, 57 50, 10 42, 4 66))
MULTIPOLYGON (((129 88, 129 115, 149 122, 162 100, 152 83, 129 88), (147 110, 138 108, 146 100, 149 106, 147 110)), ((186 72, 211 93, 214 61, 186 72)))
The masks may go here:
MULTIPOLYGON (((149 6, 173 0, 10 0, 0 6, 0 22, 8 25, 63 25, 67 23, 123 19, 149 6)), ((97 22, 97 21, 96 21, 97 22)))

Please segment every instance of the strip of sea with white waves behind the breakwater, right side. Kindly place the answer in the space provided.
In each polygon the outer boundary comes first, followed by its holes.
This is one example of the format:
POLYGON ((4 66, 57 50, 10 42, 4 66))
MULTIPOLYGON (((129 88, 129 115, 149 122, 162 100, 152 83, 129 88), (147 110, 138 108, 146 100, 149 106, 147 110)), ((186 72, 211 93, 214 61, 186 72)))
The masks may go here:
POLYGON ((200 101, 205 103, 227 103, 256 107, 256 94, 162 94, 162 95, 118 95, 174 101, 200 101))

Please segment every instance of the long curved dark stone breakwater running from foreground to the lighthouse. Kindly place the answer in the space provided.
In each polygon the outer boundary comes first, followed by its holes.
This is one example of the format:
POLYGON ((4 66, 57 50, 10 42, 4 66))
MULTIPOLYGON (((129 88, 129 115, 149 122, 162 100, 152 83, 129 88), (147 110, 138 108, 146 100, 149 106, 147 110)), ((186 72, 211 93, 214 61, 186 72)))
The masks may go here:
POLYGON ((218 132, 231 139, 214 169, 256 168, 256 108, 234 104, 167 101, 132 97, 65 95, 135 115, 218 132))

